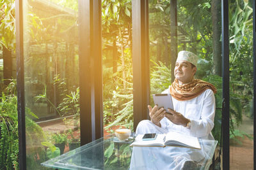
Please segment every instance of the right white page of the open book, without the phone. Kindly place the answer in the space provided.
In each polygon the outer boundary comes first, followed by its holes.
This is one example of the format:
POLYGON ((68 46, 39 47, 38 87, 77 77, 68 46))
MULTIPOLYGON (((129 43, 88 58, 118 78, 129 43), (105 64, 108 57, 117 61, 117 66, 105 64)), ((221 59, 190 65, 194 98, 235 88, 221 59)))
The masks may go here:
POLYGON ((198 149, 201 148, 198 138, 181 134, 179 132, 168 132, 166 134, 165 145, 186 146, 198 149))

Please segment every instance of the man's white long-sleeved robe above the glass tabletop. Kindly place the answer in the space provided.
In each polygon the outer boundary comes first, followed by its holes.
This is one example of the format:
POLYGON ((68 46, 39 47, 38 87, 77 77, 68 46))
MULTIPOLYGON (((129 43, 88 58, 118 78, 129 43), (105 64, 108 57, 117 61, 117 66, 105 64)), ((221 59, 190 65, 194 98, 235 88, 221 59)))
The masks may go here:
MULTIPOLYGON (((162 93, 170 93, 170 91, 167 89, 162 93)), ((188 101, 178 101, 174 97, 172 97, 172 101, 174 110, 189 118, 191 121, 190 128, 175 125, 168 118, 164 117, 160 121, 160 128, 148 129, 149 127, 143 125, 143 121, 140 122, 137 126, 136 134, 177 131, 197 138, 214 139, 211 134, 215 116, 215 97, 212 90, 207 89, 200 96, 188 101)))

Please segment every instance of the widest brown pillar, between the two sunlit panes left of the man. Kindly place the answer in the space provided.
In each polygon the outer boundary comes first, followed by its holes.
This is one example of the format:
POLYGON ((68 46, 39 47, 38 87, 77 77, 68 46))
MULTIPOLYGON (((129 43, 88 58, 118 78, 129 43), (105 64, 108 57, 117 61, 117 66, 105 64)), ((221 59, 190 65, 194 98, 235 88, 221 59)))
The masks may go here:
POLYGON ((103 136, 101 1, 79 0, 81 145, 103 136))

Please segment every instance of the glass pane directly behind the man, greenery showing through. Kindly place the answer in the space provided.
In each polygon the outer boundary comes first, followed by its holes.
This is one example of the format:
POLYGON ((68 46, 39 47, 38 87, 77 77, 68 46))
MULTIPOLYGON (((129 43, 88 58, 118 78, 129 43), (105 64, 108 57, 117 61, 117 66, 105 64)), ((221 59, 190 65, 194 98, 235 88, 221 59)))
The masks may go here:
MULTIPOLYGON (((177 1, 176 8, 172 3, 170 4, 170 1, 151 0, 149 4, 149 53, 151 59, 151 96, 164 90, 168 92, 167 89, 172 84, 172 78, 174 79, 172 69, 174 70, 175 60, 172 62, 172 57, 177 57, 177 53, 182 50, 193 52, 198 56, 195 78, 208 81, 217 89, 214 127, 211 132, 214 139, 220 142, 222 102, 221 32, 212 31, 214 28, 221 31, 220 8, 217 9, 211 11, 210 1, 193 1, 193 3, 191 1, 177 1), (176 26, 175 9, 177 9, 176 26), (217 24, 215 25, 212 25, 213 15, 217 16, 215 18, 217 24), (177 29, 177 37, 173 32, 175 29, 177 29), (176 42, 177 45, 175 45, 176 42), (177 48, 176 54, 173 52, 175 48, 177 48)), ((154 106, 152 98, 150 104, 154 106)), ((193 115, 191 114, 191 116, 193 115)), ((180 127, 180 129, 182 128, 180 127)))

